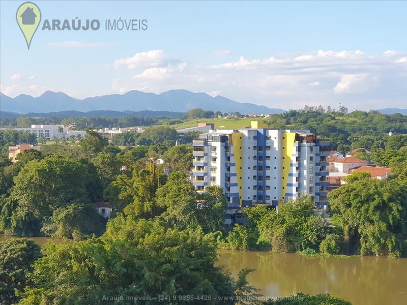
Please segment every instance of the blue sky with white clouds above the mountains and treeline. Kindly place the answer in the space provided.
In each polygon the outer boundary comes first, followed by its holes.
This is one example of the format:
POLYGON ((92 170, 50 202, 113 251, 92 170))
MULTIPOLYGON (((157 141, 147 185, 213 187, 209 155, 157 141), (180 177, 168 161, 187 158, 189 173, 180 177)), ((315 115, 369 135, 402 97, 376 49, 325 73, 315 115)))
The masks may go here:
POLYGON ((42 17, 30 50, 16 22, 23 1, 0 2, 10 97, 187 89, 282 109, 407 108, 406 1, 33 2, 42 17), (42 29, 75 18, 100 28, 42 29), (119 19, 148 28, 105 29, 119 19))

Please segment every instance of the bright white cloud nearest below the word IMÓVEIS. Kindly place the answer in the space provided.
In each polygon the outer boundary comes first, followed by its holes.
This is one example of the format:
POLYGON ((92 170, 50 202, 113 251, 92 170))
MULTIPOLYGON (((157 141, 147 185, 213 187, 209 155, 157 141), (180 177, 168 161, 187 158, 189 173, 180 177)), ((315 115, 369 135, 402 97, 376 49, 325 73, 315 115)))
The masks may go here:
POLYGON ((137 52, 132 57, 115 60, 114 67, 126 66, 128 69, 160 67, 164 63, 163 50, 137 52))

